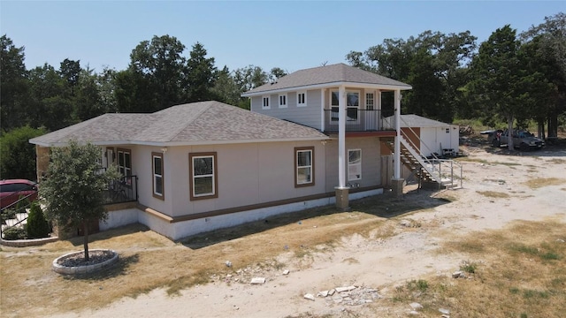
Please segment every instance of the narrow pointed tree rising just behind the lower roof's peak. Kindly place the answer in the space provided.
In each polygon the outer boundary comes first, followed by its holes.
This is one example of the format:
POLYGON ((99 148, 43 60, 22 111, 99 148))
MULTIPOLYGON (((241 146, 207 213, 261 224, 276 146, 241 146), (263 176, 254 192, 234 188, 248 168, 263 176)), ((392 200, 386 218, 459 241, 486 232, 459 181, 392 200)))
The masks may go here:
POLYGON ((211 99, 211 88, 218 78, 214 57, 206 58, 203 44, 196 42, 187 61, 188 102, 202 102, 211 99))

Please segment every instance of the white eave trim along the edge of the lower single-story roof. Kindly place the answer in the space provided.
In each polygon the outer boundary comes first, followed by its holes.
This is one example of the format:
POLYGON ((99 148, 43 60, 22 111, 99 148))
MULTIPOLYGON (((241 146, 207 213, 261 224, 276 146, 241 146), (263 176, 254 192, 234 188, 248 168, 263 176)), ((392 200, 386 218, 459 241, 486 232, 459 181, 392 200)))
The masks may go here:
MULTIPOLYGON (((257 142, 289 142, 289 141, 323 141, 331 140, 332 138, 328 136, 320 137, 305 137, 305 138, 280 138, 280 139, 258 139, 258 140, 203 140, 203 141, 141 141, 141 140, 123 140, 123 141, 89 141, 80 140, 77 141, 79 144, 85 144, 90 142, 96 146, 118 146, 118 145, 139 145, 139 146, 151 146, 151 147, 177 147, 177 146, 203 146, 203 145, 232 145, 232 144, 242 144, 242 143, 257 143, 257 142)), ((41 142, 32 141, 30 143, 41 146, 41 147, 65 147, 68 145, 67 142, 41 142)))

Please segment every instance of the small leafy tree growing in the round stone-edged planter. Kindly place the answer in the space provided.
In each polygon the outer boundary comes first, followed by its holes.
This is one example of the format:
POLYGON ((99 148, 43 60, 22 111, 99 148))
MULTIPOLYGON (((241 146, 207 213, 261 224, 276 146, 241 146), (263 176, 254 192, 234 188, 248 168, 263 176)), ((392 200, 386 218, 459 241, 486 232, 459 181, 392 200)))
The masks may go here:
POLYGON ((45 200, 45 215, 60 227, 84 227, 85 261, 88 261, 88 223, 104 220, 104 190, 117 180, 117 169, 101 170, 97 160, 102 149, 71 140, 65 148, 52 148, 47 178, 40 186, 45 200))

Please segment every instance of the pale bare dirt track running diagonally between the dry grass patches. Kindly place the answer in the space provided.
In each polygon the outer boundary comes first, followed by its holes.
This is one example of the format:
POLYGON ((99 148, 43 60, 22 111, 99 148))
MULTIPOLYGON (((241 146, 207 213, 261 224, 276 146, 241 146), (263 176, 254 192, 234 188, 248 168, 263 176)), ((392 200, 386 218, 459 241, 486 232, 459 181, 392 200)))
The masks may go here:
MULTIPOLYGON (((464 150, 470 155, 459 160, 463 187, 430 192, 407 186, 402 202, 425 205, 431 197, 445 201, 391 218, 393 232, 385 239, 346 235, 333 248, 319 246, 307 262, 282 250, 275 261, 282 265, 271 269, 234 268, 233 275, 219 273, 209 284, 197 284, 177 295, 157 289, 136 298, 116 299, 107 307, 51 316, 406 316, 408 306, 380 307, 380 299, 391 297, 395 286, 409 280, 449 276, 457 270, 463 256, 441 253, 443 242, 474 231, 501 229, 514 220, 562 223, 566 233, 566 148, 529 153, 472 146, 464 150), (264 277, 265 283, 249 284, 255 276, 264 277), (375 297, 356 306, 317 297, 318 292, 346 286, 375 290, 375 297), (305 294, 312 294, 314 300, 305 299, 305 294)), ((307 221, 297 226, 317 231, 317 225, 307 221)))

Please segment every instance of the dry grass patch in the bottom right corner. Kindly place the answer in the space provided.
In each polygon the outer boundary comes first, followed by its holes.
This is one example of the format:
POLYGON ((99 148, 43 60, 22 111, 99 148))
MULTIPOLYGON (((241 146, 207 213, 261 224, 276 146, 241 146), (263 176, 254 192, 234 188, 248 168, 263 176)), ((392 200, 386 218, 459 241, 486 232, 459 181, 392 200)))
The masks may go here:
MULTIPOLYGON (((515 222, 451 238, 442 254, 463 254, 470 279, 432 276, 399 286, 395 303, 416 301, 425 316, 562 317, 566 313, 566 224, 515 222), (471 273, 473 272, 473 273, 471 273)), ((455 264, 455 269, 456 269, 455 264)))

